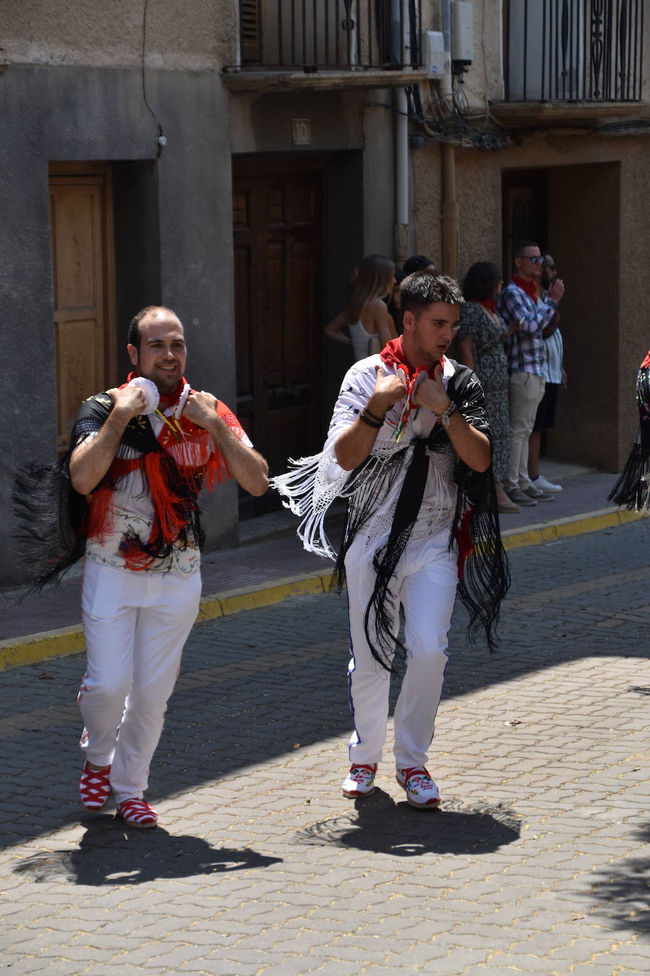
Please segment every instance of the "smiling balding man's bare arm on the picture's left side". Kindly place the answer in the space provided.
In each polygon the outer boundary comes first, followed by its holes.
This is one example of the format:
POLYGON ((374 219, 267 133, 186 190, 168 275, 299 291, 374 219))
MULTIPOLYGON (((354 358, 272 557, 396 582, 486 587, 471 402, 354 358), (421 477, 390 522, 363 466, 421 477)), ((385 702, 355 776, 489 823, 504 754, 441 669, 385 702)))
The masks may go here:
POLYGON ((145 406, 139 386, 109 389, 113 409, 95 437, 75 447, 70 457, 70 481, 80 495, 90 495, 110 468, 122 434, 129 421, 141 414, 145 406))

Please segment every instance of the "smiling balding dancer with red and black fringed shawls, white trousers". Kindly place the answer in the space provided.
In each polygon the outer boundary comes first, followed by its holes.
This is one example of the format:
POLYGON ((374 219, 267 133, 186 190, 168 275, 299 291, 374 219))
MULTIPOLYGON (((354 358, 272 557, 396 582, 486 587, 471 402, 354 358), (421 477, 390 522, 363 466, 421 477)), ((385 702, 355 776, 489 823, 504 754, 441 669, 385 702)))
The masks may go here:
POLYGON ((37 587, 85 554, 81 801, 99 810, 113 793, 124 821, 146 828, 158 821, 143 799, 149 762, 199 609, 199 491, 235 477, 262 495, 268 469, 228 407, 185 381, 169 308, 138 312, 127 348, 128 382, 82 404, 66 457, 23 468, 15 501, 37 587))

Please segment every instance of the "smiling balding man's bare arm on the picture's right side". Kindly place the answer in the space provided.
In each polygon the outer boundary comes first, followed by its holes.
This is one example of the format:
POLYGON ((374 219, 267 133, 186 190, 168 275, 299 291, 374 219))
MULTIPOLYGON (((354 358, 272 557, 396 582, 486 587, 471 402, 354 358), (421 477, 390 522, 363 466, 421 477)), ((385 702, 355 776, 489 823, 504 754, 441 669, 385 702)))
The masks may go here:
POLYGON ((191 393, 183 417, 204 427, 221 451, 231 474, 250 495, 263 495, 269 487, 269 468, 266 461, 221 420, 216 413, 216 397, 205 390, 191 393))

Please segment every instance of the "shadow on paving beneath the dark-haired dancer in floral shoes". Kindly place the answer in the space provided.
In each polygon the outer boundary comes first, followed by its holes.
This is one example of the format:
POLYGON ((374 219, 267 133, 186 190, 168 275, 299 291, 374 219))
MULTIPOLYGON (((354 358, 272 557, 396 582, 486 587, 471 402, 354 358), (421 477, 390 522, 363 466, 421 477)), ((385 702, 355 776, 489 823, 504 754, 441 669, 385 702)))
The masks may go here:
POLYGON ((421 857, 423 854, 488 854, 519 836, 516 814, 484 803, 443 803, 415 810, 376 789, 355 801, 356 811, 312 824, 296 834, 298 842, 357 847, 375 854, 421 857), (356 814, 356 815, 355 815, 356 814))

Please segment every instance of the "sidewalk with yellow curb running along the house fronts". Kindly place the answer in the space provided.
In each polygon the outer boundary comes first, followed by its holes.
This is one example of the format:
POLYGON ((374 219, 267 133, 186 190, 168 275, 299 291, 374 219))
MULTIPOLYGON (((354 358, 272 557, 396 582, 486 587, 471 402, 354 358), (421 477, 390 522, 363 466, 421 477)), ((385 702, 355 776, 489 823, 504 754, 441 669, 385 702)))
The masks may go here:
MULTIPOLYGON (((547 463, 544 474, 563 485, 553 502, 502 515, 507 549, 593 532, 630 521, 633 512, 607 507, 615 475, 547 463)), ((297 519, 283 510, 243 523, 242 545, 220 549, 203 561, 199 620, 269 606, 299 593, 328 589, 331 563, 305 552, 295 536, 297 519), (260 538, 260 532, 265 535, 260 538)), ((334 519, 331 538, 340 525, 334 519)), ((0 594, 0 669, 84 649, 81 577, 77 573, 42 594, 15 590, 0 594)))

